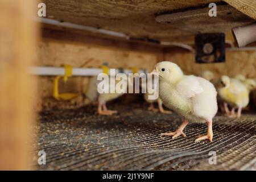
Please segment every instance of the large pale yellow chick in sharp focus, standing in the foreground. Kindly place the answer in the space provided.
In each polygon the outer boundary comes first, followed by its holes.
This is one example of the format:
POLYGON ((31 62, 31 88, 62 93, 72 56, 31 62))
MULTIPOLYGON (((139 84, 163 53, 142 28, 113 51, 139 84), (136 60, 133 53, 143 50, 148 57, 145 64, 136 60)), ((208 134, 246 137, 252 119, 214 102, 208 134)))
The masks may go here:
POLYGON ((185 76, 174 63, 163 61, 155 65, 153 74, 159 75, 159 96, 169 109, 183 117, 183 123, 174 132, 162 136, 180 135, 185 137, 183 129, 188 121, 207 123, 207 135, 195 140, 209 139, 212 142, 212 118, 217 113, 217 92, 208 80, 193 75, 185 76))

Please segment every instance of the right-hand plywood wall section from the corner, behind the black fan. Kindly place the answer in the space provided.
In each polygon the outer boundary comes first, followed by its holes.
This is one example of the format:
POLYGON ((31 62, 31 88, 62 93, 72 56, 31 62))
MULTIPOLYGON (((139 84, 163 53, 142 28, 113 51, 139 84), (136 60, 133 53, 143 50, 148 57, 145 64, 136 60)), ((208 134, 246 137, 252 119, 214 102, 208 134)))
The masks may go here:
POLYGON ((186 74, 199 75, 205 69, 221 75, 234 76, 243 74, 246 77, 256 77, 256 50, 255 51, 226 51, 225 63, 196 64, 192 52, 166 52, 164 60, 178 64, 186 74))

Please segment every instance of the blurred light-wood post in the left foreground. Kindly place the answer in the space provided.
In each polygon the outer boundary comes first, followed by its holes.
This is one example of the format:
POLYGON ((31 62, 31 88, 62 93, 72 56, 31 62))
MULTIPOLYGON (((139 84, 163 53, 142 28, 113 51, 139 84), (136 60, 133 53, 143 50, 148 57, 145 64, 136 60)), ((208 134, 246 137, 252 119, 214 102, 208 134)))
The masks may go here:
MULTIPOLYGON (((38 27, 34 0, 0 1, 0 169, 31 169, 34 79, 27 67, 35 59, 38 27)), ((34 133, 35 134, 35 133, 34 133)))

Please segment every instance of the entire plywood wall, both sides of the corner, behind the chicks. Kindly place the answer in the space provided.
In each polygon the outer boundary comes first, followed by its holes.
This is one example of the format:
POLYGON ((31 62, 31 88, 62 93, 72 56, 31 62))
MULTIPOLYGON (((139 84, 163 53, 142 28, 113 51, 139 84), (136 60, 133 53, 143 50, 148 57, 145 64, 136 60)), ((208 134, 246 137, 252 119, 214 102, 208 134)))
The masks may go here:
MULTIPOLYGON (((151 71, 161 60, 174 61, 186 74, 199 75, 205 69, 212 71, 216 77, 234 76, 242 73, 247 77, 256 77, 256 51, 227 51, 226 63, 196 64, 195 55, 183 49, 169 49, 148 44, 122 42, 122 40, 105 40, 93 35, 78 32, 52 30, 45 28, 42 39, 38 42, 39 59, 36 65, 61 67, 71 64, 73 67, 98 68, 108 63, 110 68, 138 67, 151 71)), ((38 78, 38 110, 73 108, 88 104, 84 93, 88 77, 72 77, 64 84, 60 81, 60 92, 79 93, 71 101, 56 101, 52 97, 54 77, 38 78)))

